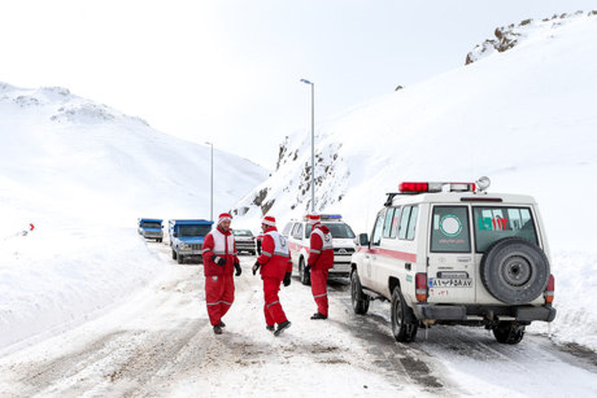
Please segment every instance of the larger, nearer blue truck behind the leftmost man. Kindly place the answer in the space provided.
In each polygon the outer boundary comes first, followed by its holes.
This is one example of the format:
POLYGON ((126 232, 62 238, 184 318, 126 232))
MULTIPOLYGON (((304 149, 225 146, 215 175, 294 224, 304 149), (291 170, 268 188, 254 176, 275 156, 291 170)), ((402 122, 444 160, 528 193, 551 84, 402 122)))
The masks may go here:
POLYGON ((211 231, 213 223, 207 220, 169 220, 172 259, 179 264, 189 257, 198 257, 202 261, 203 239, 211 231))

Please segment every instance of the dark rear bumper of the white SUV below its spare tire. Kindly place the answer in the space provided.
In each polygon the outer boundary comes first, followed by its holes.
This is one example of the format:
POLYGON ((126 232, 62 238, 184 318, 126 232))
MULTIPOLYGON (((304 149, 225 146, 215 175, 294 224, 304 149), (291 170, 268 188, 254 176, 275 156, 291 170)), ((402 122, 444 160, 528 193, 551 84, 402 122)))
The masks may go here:
POLYGON ((444 306, 434 304, 416 304, 414 313, 420 320, 447 320, 461 321, 479 320, 479 317, 486 320, 499 320, 500 317, 514 318, 519 322, 531 322, 543 320, 552 322, 556 317, 556 309, 553 307, 533 306, 444 306))

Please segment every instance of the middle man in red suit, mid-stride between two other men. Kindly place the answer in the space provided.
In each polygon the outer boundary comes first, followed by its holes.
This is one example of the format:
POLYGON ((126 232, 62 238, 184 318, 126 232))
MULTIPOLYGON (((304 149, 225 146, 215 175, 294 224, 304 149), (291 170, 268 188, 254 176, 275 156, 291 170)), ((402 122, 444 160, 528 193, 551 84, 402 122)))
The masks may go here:
POLYGON ((284 286, 290 285, 290 276, 293 271, 293 263, 290 260, 290 250, 286 238, 278 233, 276 219, 266 216, 261 221, 263 240, 261 242, 261 255, 253 266, 253 275, 261 268, 261 279, 263 279, 263 293, 265 305, 266 329, 278 336, 284 329, 290 327, 290 320, 286 318, 278 291, 280 283, 284 286), (274 325, 278 323, 278 329, 274 331, 274 325))

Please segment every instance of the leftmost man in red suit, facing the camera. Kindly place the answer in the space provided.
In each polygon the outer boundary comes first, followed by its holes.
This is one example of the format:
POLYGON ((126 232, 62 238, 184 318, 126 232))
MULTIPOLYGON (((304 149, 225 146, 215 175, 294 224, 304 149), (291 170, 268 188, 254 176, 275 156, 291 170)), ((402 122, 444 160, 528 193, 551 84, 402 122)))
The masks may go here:
POLYGON ((232 215, 220 214, 217 227, 205 235, 203 240, 203 270, 205 274, 205 301, 207 313, 215 334, 221 334, 226 324, 221 317, 227 313, 234 301, 233 269, 240 276, 241 264, 236 257, 234 235, 230 230, 232 215))

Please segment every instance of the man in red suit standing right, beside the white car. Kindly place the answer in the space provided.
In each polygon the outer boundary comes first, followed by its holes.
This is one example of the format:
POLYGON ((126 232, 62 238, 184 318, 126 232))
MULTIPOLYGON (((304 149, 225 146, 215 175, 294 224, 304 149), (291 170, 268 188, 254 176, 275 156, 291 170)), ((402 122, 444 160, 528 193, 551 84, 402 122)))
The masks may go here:
POLYGON ((327 319, 328 317, 328 270, 334 266, 334 249, 332 235, 328 227, 321 224, 319 215, 309 215, 311 238, 309 260, 305 271, 311 271, 311 292, 317 312, 311 319, 327 319))

